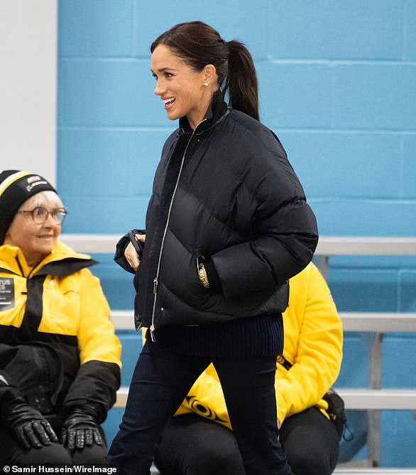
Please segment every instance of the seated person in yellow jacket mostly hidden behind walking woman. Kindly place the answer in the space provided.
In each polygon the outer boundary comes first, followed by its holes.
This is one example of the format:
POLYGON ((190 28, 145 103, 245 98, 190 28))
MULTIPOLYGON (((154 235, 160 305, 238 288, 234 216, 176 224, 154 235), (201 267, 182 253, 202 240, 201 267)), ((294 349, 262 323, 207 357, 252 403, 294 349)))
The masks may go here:
MULTIPOLYGON (((279 357, 275 393, 280 442, 293 474, 332 474, 339 434, 325 412, 328 405, 322 396, 339 374, 342 325, 314 264, 290 279, 283 322, 283 357, 292 366, 285 369, 279 357)), ((166 428, 155 464, 162 475, 245 473, 212 365, 199 376, 166 428)))

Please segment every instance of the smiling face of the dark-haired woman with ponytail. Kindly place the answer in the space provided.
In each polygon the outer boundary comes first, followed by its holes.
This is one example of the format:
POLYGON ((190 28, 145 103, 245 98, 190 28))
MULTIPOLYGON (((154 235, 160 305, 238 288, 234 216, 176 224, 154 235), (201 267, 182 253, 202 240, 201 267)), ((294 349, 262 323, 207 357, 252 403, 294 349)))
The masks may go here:
POLYGON ((204 118, 212 98, 214 66, 207 65, 197 72, 165 45, 155 48, 151 65, 156 78, 155 94, 165 103, 168 118, 175 121, 187 116, 195 128, 204 118))

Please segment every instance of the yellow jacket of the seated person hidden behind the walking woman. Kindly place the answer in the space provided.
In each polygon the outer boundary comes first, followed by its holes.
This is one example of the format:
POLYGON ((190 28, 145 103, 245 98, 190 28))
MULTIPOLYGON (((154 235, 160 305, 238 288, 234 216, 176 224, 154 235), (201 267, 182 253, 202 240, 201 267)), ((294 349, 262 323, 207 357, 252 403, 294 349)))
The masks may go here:
MULTIPOLYGON (((341 367, 341 320, 328 286, 314 264, 290 279, 289 304, 283 322, 283 356, 292 367, 288 371, 277 365, 275 390, 280 423, 311 406, 327 409, 322 396, 334 384, 341 367)), ((231 428, 212 364, 199 376, 175 415, 190 412, 231 428)))

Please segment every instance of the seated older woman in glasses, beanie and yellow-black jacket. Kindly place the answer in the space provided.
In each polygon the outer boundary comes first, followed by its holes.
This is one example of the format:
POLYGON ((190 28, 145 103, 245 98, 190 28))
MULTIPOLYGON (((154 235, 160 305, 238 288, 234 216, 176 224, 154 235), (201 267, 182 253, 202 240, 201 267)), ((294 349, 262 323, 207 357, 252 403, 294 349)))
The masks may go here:
POLYGON ((42 177, 0 172, 0 466, 105 463, 121 345, 65 215, 42 177))

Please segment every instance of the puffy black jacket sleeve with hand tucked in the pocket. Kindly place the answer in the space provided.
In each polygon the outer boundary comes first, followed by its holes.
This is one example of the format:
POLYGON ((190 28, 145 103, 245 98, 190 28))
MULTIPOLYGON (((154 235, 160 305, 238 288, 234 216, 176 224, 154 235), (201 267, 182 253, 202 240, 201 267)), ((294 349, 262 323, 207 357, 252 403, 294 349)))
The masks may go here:
POLYGON ((309 264, 317 246, 316 218, 283 147, 270 135, 263 139, 244 182, 256 203, 256 238, 212 256, 226 298, 273 291, 309 264))

